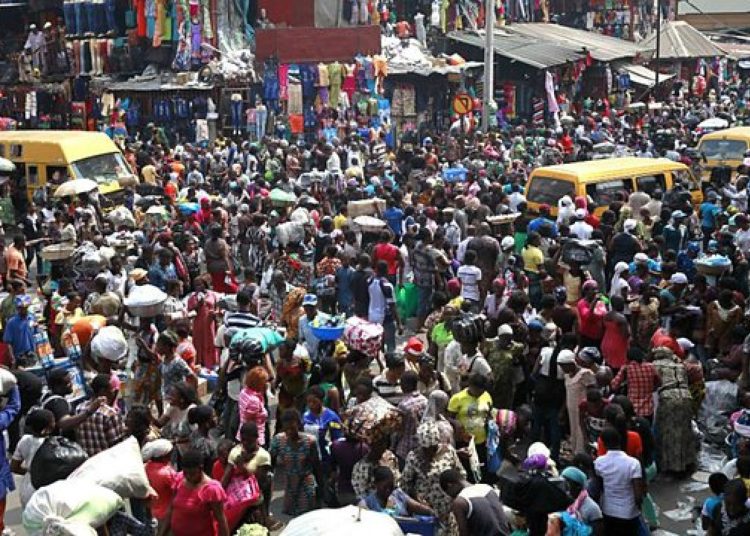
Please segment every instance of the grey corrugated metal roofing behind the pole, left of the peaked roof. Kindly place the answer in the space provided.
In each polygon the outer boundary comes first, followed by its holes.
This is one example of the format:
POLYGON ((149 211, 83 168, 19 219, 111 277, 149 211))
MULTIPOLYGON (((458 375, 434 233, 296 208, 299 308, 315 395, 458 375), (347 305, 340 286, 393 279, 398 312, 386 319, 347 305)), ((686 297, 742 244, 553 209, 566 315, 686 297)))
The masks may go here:
MULTIPOLYGON (((454 31, 454 41, 484 48, 484 32, 454 31)), ((495 29, 495 53, 511 60, 546 69, 577 61, 591 54, 595 60, 633 58, 644 50, 638 45, 558 24, 523 23, 495 29)))

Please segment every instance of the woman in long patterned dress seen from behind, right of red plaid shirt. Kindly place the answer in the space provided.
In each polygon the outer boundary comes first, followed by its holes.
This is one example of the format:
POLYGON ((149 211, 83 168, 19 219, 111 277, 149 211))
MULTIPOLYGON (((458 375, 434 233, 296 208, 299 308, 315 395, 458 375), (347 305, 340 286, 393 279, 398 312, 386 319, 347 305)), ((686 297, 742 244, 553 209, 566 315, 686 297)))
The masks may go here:
POLYGON ((659 470, 682 473, 695 465, 697 454, 687 369, 669 348, 654 348, 651 355, 661 379, 654 422, 659 470))

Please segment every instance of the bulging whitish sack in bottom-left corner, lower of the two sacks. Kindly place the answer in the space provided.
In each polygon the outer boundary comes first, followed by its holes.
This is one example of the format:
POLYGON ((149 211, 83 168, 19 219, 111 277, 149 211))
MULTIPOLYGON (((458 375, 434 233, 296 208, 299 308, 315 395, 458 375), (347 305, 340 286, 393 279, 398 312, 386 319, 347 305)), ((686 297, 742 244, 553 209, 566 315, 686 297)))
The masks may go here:
POLYGON ((95 536, 123 500, 101 486, 59 480, 34 492, 23 511, 23 526, 29 536, 95 536))

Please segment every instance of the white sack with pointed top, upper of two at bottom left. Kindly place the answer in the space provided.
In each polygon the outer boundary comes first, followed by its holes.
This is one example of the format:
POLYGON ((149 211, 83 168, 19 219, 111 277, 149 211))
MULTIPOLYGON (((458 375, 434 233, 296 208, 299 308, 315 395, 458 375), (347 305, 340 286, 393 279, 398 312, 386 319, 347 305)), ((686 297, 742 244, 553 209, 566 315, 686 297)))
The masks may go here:
POLYGON ((141 449, 132 436, 86 460, 73 471, 68 481, 103 486, 125 499, 145 499, 150 490, 141 449))

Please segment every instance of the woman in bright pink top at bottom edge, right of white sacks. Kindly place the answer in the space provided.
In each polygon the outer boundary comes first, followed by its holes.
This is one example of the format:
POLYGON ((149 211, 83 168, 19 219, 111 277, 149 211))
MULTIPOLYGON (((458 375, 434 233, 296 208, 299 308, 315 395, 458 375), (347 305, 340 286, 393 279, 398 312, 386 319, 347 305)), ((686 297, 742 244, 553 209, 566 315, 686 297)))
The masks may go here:
POLYGON ((194 450, 182 456, 174 498, 159 536, 229 536, 224 516, 226 493, 221 483, 203 472, 203 456, 194 450))

